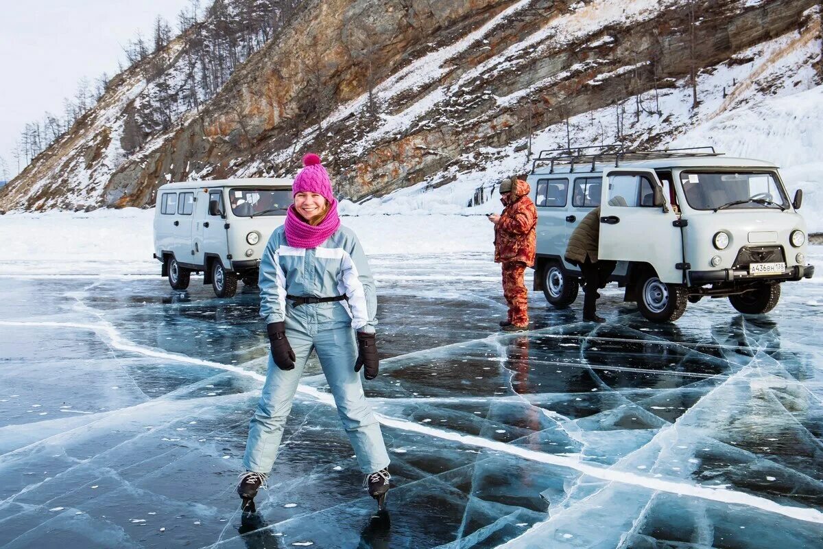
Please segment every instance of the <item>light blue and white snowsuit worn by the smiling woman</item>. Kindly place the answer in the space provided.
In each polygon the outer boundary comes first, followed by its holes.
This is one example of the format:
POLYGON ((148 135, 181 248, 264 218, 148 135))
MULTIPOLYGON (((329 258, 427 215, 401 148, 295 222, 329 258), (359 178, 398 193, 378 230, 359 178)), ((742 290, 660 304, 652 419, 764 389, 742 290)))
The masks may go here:
POLYGON ((355 330, 374 333, 377 297, 360 241, 341 226, 317 248, 294 248, 279 227, 268 240, 260 263, 260 315, 266 323, 286 322, 286 337, 295 351, 294 370, 280 370, 268 356, 266 383, 257 412, 249 423, 243 459, 246 470, 272 470, 291 411, 300 375, 314 349, 331 388, 337 413, 349 435, 360 470, 388 467, 380 425, 365 401, 357 359, 355 330), (348 296, 348 300, 298 307, 286 295, 348 296), (352 329, 354 328, 354 329, 352 329))

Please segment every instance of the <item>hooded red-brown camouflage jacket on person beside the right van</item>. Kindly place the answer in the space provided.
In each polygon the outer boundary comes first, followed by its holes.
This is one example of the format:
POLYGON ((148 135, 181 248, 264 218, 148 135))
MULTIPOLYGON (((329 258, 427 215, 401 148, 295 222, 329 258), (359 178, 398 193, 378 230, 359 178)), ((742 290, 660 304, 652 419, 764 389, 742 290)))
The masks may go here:
POLYGON ((495 225, 495 262, 519 261, 534 265, 537 251, 537 208, 528 198, 528 183, 518 179, 495 225))

